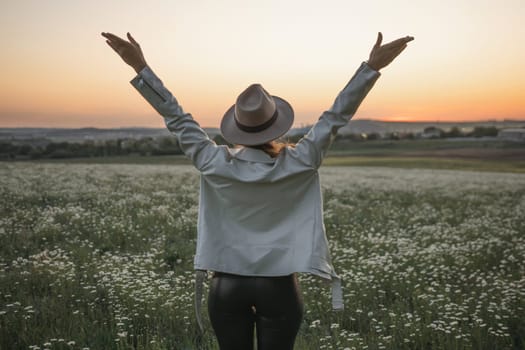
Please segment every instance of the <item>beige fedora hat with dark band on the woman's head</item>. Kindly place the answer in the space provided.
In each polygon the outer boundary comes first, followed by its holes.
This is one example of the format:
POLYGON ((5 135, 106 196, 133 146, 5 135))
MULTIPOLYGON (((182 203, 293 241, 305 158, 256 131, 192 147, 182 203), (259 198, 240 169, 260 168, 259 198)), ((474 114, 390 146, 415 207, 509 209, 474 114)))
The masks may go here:
POLYGON ((252 84, 224 114, 221 133, 232 144, 262 145, 290 130, 293 118, 288 102, 270 96, 260 84, 252 84))

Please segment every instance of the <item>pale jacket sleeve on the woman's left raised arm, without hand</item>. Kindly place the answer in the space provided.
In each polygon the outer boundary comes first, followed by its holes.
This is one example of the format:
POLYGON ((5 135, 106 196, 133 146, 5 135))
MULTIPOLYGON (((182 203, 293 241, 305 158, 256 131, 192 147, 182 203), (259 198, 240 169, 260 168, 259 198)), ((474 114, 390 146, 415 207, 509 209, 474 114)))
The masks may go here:
POLYGON ((180 148, 195 167, 202 170, 217 155, 220 147, 210 140, 191 114, 182 106, 149 66, 131 80, 131 85, 164 117, 164 123, 175 134, 180 148))

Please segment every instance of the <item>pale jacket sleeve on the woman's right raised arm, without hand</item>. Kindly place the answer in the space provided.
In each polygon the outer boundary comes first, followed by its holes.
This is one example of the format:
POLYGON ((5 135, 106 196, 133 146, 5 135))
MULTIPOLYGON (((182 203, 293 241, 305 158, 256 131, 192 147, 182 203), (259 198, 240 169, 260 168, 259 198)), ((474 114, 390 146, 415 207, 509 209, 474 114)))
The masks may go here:
POLYGON ((332 107, 321 115, 310 131, 289 151, 314 168, 319 168, 337 131, 352 119, 379 76, 379 72, 363 62, 332 107))

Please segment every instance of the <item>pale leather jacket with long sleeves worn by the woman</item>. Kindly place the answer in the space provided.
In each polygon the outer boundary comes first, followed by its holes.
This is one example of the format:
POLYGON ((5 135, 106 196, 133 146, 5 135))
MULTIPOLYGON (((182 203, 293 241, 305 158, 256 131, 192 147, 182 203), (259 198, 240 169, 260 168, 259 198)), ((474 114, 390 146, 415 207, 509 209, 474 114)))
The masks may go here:
POLYGON ((276 158, 249 147, 216 145, 146 67, 132 85, 164 117, 184 154, 200 171, 195 269, 249 276, 311 273, 342 291, 328 250, 318 169, 379 73, 362 63, 295 147, 276 158))

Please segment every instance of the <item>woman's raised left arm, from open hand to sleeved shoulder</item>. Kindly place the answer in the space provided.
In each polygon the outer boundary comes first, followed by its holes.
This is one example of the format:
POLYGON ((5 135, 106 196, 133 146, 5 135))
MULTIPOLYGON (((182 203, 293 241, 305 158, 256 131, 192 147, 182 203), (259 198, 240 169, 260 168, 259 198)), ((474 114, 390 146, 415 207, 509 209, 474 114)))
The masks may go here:
POLYGON ((140 45, 131 34, 127 34, 129 41, 111 33, 102 33, 102 36, 122 60, 137 72, 131 84, 164 117, 166 127, 175 134, 184 154, 197 169, 204 170, 216 159, 220 148, 209 139, 191 114, 184 112, 177 99, 147 65, 140 45))

